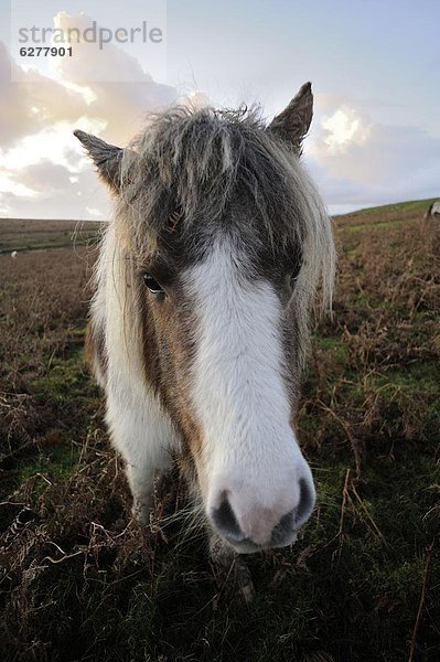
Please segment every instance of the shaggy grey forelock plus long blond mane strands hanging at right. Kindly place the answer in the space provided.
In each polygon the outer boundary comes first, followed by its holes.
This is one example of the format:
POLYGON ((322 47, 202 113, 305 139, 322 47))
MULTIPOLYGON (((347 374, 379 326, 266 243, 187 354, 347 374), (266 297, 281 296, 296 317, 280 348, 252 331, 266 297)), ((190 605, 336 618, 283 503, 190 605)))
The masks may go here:
POLYGON ((331 300, 334 247, 321 199, 293 148, 265 126, 256 107, 176 107, 150 116, 125 150, 117 216, 131 224, 138 245, 167 241, 176 210, 179 233, 189 242, 201 233, 213 237, 234 204, 248 235, 302 255, 291 307, 303 354, 321 276, 323 300, 331 300))

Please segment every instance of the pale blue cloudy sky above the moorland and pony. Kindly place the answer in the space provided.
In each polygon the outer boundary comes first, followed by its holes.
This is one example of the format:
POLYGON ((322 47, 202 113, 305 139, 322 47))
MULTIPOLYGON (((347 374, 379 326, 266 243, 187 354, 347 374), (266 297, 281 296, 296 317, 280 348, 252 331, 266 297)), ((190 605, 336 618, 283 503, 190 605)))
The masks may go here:
POLYGON ((437 0, 1 0, 0 216, 108 217, 75 128, 124 146, 189 102, 259 103, 270 120, 307 81, 303 160, 331 213, 440 197, 439 25, 437 0), (62 45, 32 26, 60 38, 94 21, 112 33, 101 49, 20 55, 62 45), (122 43, 117 29, 138 32, 122 43))

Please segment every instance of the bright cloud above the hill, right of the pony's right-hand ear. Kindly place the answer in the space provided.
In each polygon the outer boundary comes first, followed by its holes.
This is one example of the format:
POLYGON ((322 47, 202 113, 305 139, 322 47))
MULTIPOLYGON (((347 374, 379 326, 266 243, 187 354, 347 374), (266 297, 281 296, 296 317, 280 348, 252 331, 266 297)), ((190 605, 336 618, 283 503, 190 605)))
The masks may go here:
POLYGON ((346 100, 321 116, 307 149, 326 202, 353 205, 438 195, 439 154, 439 138, 374 122, 346 100))

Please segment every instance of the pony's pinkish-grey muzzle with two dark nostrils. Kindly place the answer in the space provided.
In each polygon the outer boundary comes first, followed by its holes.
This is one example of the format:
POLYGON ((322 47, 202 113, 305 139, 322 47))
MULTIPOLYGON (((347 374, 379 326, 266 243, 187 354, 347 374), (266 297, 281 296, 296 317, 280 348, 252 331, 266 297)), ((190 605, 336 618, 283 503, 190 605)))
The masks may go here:
POLYGON ((215 531, 242 554, 285 547, 297 540, 299 528, 313 511, 313 482, 302 478, 299 481, 299 493, 298 504, 281 516, 277 514, 277 509, 254 506, 248 514, 238 517, 230 503, 232 495, 224 492, 219 505, 211 509, 210 521, 215 531))

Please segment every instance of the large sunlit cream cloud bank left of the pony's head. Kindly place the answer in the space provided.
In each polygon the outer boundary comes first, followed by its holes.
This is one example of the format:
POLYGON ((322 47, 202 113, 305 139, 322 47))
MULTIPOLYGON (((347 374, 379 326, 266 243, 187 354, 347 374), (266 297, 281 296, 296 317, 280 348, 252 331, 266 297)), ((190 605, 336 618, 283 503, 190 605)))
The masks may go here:
MULTIPOLYGON (((90 20, 60 12, 54 22, 67 29, 88 25, 90 20)), ((0 42, 2 214, 96 217, 97 191, 106 214, 106 195, 72 131, 82 128, 125 145, 142 126, 146 113, 178 98, 174 87, 153 81, 116 45, 106 45, 105 57, 90 57, 88 46, 77 44, 75 57, 53 58, 50 77, 20 68, 0 42), (116 82, 105 82, 108 71, 116 82)))

